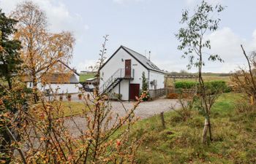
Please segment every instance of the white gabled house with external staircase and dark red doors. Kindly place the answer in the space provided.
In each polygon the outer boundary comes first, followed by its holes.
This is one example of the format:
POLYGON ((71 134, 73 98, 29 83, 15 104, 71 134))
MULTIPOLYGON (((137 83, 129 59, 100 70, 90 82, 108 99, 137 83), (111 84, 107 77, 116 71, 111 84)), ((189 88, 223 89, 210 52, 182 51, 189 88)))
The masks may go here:
POLYGON ((142 74, 148 79, 148 89, 165 87, 165 72, 151 60, 134 50, 121 46, 100 69, 100 93, 118 93, 124 101, 135 100, 142 88, 142 74))

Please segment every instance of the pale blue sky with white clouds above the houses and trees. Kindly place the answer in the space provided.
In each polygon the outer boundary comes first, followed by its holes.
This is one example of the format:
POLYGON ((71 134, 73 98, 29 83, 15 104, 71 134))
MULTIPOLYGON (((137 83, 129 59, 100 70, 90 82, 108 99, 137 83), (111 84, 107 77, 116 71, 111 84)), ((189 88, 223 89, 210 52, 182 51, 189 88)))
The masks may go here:
MULTIPOLYGON (((0 8, 7 15, 23 0, 0 0, 0 8)), ((175 34, 181 28, 183 9, 190 12, 200 0, 32 0, 46 12, 51 32, 72 31, 75 47, 71 66, 78 71, 94 66, 99 58, 102 36, 109 35, 107 55, 120 45, 148 57, 165 71, 187 70, 188 59, 181 58, 175 34)), ((206 0, 222 4, 219 29, 206 37, 211 40, 211 52, 225 63, 208 62, 203 71, 234 71, 245 67, 246 52, 256 50, 255 0, 206 0)), ((190 70, 195 72, 196 69, 190 70)))

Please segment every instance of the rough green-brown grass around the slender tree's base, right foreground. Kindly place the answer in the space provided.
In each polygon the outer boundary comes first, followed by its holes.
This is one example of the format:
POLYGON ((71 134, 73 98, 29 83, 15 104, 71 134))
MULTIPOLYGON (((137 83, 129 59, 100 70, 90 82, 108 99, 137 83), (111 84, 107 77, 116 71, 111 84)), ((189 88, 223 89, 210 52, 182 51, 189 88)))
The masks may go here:
POLYGON ((256 163, 256 112, 238 113, 237 93, 225 93, 211 112, 214 141, 200 143, 203 116, 181 121, 176 112, 165 113, 165 129, 159 115, 141 120, 133 132, 143 138, 138 163, 256 163))

